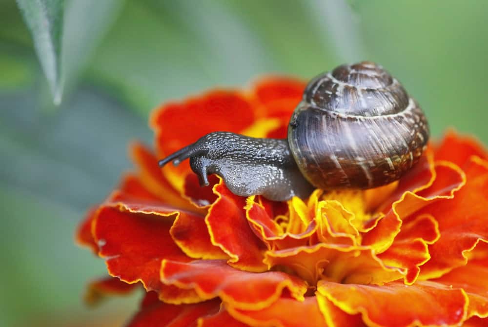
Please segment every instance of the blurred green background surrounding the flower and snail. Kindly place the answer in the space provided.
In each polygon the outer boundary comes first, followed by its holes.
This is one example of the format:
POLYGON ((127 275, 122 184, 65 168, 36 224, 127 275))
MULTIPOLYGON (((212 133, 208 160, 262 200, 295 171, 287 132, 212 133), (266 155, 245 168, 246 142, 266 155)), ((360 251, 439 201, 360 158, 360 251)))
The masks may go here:
POLYGON ((111 326, 138 294, 87 308, 105 266, 76 225, 152 142, 152 108, 267 73, 309 79, 383 64, 421 103, 433 136, 488 142, 488 1, 66 0, 64 95, 53 105, 14 0, 0 0, 0 326, 111 326))

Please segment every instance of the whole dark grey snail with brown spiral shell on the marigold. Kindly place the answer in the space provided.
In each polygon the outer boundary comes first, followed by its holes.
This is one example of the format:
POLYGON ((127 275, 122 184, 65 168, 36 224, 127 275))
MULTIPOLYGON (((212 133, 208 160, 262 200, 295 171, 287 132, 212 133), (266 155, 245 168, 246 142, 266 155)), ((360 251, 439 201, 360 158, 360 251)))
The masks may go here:
POLYGON ((311 80, 287 139, 209 133, 159 162, 190 158, 200 184, 217 174, 240 196, 285 201, 314 187, 367 189, 394 182, 418 162, 429 138, 418 103, 380 65, 341 65, 311 80))

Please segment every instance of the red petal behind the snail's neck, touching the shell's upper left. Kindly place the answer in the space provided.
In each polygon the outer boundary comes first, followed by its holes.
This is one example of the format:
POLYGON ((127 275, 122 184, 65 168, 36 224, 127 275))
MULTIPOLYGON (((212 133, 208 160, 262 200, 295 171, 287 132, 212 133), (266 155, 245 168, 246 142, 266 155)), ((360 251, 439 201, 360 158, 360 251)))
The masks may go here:
POLYGON ((268 117, 289 119, 291 113, 302 100, 306 83, 301 80, 275 77, 257 82, 254 94, 265 107, 268 117))

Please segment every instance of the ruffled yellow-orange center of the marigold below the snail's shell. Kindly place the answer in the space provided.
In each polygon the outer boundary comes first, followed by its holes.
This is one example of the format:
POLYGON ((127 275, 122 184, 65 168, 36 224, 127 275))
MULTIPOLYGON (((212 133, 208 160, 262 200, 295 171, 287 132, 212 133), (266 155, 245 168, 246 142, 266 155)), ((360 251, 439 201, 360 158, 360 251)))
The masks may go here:
POLYGON ((367 191, 316 190, 307 202, 288 201, 288 215, 277 215, 280 232, 268 238, 264 262, 275 270, 293 273, 313 287, 319 280, 377 284, 386 274, 370 246, 363 244, 370 210, 367 191), (376 280, 378 276, 378 280, 376 280))

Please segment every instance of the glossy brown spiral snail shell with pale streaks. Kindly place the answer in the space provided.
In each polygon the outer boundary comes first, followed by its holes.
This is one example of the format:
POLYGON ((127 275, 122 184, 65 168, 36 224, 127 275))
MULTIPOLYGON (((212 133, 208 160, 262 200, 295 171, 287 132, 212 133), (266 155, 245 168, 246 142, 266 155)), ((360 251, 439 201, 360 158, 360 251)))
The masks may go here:
POLYGON ((418 161, 428 137, 417 102, 386 70, 367 61, 313 79, 288 128, 300 170, 323 189, 398 180, 418 161))

